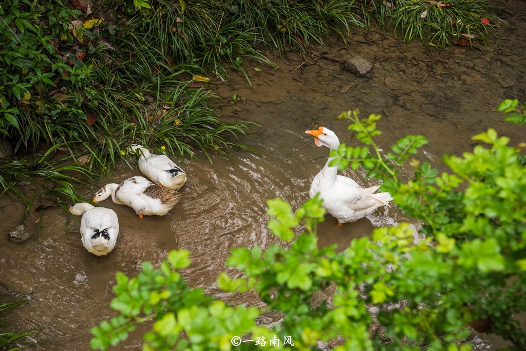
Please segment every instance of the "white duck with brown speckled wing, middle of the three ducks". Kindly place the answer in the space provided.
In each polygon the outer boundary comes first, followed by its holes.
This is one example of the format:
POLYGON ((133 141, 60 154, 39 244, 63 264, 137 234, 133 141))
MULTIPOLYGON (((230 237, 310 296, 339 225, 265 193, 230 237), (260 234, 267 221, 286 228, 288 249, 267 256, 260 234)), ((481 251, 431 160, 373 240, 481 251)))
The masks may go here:
POLYGON ((181 197, 181 193, 161 187, 140 176, 126 179, 120 184, 109 183, 95 193, 93 202, 112 196, 113 202, 128 205, 140 218, 144 215, 165 215, 181 197))

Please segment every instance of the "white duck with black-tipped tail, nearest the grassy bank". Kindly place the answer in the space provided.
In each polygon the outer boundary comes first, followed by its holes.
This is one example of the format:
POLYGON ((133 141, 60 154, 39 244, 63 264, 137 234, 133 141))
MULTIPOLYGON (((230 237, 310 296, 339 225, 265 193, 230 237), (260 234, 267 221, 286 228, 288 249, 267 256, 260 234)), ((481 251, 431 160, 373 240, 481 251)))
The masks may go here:
POLYGON ((152 154, 144 146, 133 144, 128 150, 139 153, 139 170, 151 181, 168 189, 179 190, 186 173, 166 155, 152 154))

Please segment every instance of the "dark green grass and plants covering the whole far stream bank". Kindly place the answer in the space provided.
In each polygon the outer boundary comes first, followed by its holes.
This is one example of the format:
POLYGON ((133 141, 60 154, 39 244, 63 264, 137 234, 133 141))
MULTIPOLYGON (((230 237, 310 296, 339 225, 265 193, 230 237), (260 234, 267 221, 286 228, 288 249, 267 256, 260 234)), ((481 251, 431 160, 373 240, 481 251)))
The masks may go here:
MULTIPOLYGON (((227 80, 233 69, 249 80, 254 62, 272 66, 269 50, 308 50, 331 33, 345 40, 353 26, 373 22, 406 40, 441 45, 464 34, 483 38, 482 18, 493 25, 483 0, 113 0, 94 4, 98 12, 86 16, 88 7, 82 0, 0 5, 0 132, 18 156, 47 146, 53 159, 47 168, 74 163, 91 177, 126 160, 131 142, 165 146, 179 158, 242 147, 236 140, 249 125, 218 119, 213 94, 192 78, 227 80), (65 151, 57 152, 58 144, 65 151)), ((2 194, 23 192, 13 177, 20 167, 4 164, 2 194)), ((47 179, 48 188, 64 188, 59 177, 47 179)))

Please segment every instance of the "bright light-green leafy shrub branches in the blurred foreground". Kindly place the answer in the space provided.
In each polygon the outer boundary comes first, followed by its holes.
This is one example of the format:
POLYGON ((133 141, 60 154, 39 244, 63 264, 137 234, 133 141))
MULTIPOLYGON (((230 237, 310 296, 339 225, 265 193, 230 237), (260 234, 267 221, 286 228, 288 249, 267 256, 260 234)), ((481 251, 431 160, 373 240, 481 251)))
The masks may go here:
MULTIPOLYGON (((506 100, 499 109, 523 124, 517 106, 506 100)), ((384 180, 379 191, 389 191, 397 207, 421 223, 419 240, 409 223, 400 223, 353 239, 345 252, 319 249, 321 201, 311 199, 293 213, 287 202, 269 200, 269 229, 280 242, 265 251, 233 249, 227 265, 243 277, 221 273, 217 280, 232 296, 256 293, 265 308, 227 305, 189 288, 177 272, 190 264, 189 253, 172 251, 159 269, 145 262, 135 277, 117 273, 110 306, 119 315, 92 329, 92 349, 119 344, 147 321, 155 323, 144 335, 146 351, 262 347, 234 347, 234 336, 265 337, 271 349, 275 336, 281 343, 291 336, 300 350, 315 350, 323 340, 338 345, 335 350, 468 351, 468 325, 508 340, 509 350, 526 349, 526 334, 514 319, 526 311, 524 144, 509 146, 507 137, 489 129, 472 138, 479 143, 473 152, 444 157, 450 170, 439 174, 413 158, 424 137, 400 139, 386 160, 375 143, 380 116, 360 119, 358 111, 348 111, 340 118, 351 122, 364 146, 342 144, 331 151, 333 163, 361 166, 384 180), (399 177, 406 163, 414 171, 409 181, 399 177), (304 232, 296 235, 299 225, 304 232), (261 313, 282 319, 270 330, 258 327, 261 313)))

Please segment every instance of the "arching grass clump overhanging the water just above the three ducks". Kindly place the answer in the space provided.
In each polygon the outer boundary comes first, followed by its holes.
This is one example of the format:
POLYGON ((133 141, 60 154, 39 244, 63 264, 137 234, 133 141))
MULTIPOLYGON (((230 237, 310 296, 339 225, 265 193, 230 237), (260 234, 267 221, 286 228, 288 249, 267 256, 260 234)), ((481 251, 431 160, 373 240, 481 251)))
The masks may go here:
MULTIPOLYGON (((160 82, 159 82, 160 84, 160 82)), ((145 86, 143 94, 156 96, 141 115, 122 125, 123 137, 131 141, 140 140, 148 146, 162 144, 171 154, 179 158, 193 157, 194 148, 203 150, 210 160, 207 150, 227 154, 232 148, 247 149, 243 144, 232 141, 246 135, 250 123, 225 123, 214 115, 208 100, 214 98, 206 89, 188 89, 185 86, 165 85, 159 90, 149 90, 145 86)))

